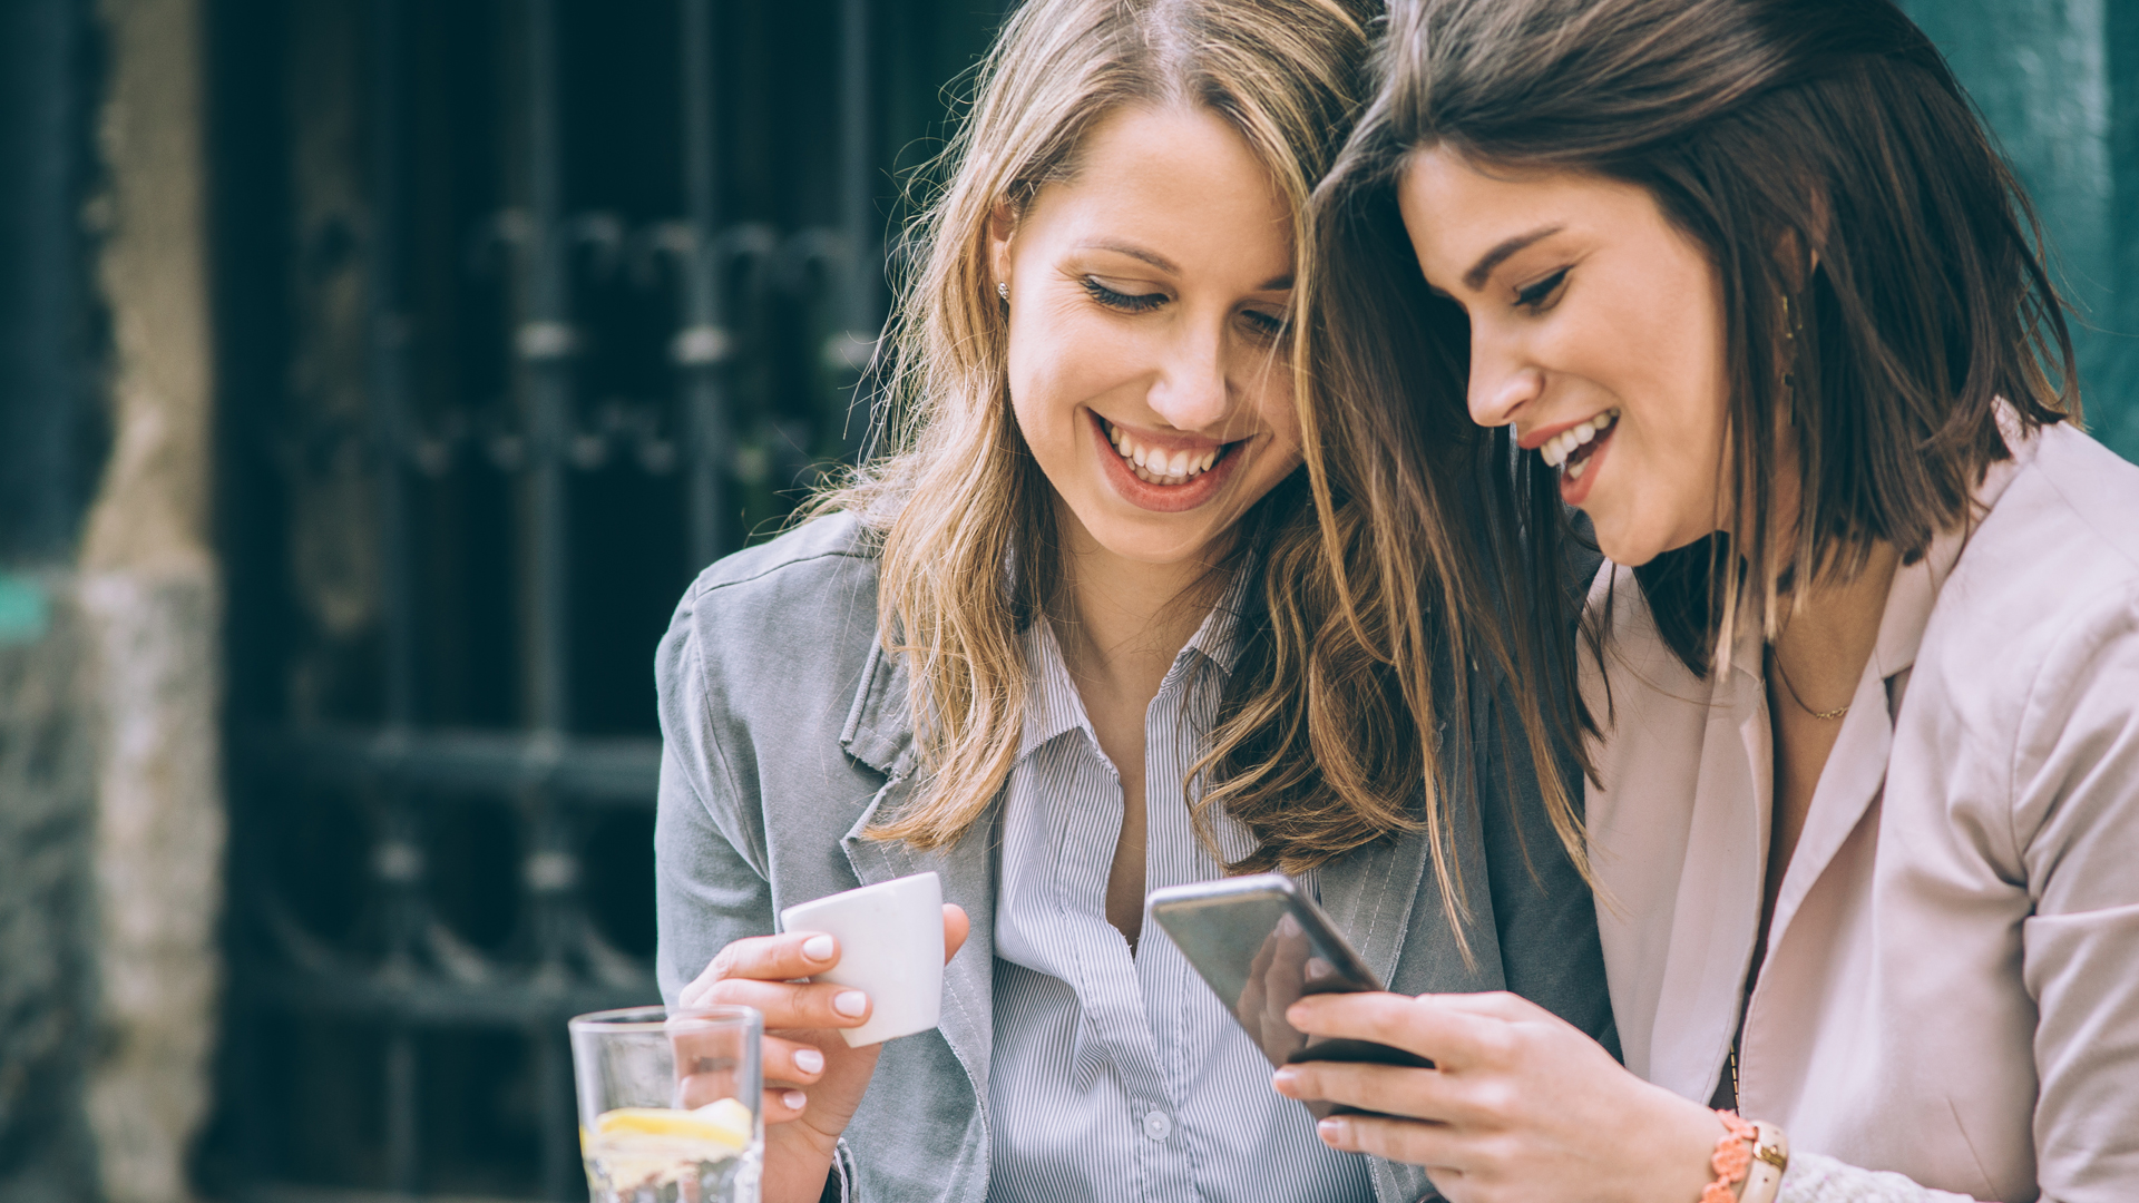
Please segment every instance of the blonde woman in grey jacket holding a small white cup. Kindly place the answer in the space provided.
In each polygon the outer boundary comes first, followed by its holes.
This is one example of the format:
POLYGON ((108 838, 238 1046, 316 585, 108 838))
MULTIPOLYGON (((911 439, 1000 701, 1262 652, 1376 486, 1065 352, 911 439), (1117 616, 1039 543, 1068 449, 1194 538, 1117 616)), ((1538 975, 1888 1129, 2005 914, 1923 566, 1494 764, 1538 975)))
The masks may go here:
POLYGON ((661 985, 766 1012, 768 1201, 1418 1199, 1324 1147, 1142 931, 1147 888, 1238 869, 1305 878, 1395 989, 1611 1040, 1561 766, 1487 738, 1551 747, 1540 700, 1446 666, 1534 676, 1420 616, 1484 584, 1444 546, 1352 557, 1343 473, 1326 524, 1301 473, 1294 248, 1367 19, 1018 11, 915 231, 892 454, 678 608, 661 985), (1407 604, 1373 627, 1345 595, 1407 604), (774 914, 924 869, 943 1023, 847 1049, 868 998, 802 983, 841 950, 774 914))

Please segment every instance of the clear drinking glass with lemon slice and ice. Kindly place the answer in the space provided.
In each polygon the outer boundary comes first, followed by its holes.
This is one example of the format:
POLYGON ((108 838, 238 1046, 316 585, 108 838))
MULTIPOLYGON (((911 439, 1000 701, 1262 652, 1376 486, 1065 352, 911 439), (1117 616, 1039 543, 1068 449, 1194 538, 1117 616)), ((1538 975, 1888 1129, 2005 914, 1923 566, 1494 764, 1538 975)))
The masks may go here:
POLYGON ((759 1012, 633 1006, 569 1030, 593 1203, 757 1203, 759 1012))

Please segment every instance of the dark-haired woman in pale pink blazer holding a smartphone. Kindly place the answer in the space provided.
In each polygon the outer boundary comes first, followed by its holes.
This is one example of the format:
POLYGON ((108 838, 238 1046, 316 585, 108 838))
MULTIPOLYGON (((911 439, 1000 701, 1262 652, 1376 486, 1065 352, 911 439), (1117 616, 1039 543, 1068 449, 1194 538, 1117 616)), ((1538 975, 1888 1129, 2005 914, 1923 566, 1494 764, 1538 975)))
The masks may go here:
POLYGON ((1626 1068, 1375 995, 1298 1021, 1440 1070, 1281 1090, 1457 1201, 2139 1199, 2139 469, 1938 51, 1887 0, 1418 0, 1380 62, 1328 441, 1414 479, 1467 396, 1540 554, 1594 522, 1626 1068))

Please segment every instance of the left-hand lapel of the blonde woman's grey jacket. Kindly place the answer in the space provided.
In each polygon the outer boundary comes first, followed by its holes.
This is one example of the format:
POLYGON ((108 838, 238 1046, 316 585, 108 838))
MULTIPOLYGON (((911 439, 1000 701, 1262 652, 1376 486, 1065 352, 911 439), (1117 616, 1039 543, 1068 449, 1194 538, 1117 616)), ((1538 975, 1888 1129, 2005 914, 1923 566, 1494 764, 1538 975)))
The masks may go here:
POLYGON ((995 1045, 995 816, 984 818, 952 848, 915 852, 905 843, 871 839, 866 833, 879 816, 892 816, 907 805, 915 788, 913 724, 907 719, 907 670, 881 644, 871 649, 862 670, 841 747, 856 760, 886 773, 862 818, 841 839, 853 875, 864 886, 937 873, 943 880, 943 901, 965 908, 973 927, 965 946, 943 970, 943 1021, 937 1030, 950 1042, 958 1064, 973 1079, 975 1098, 988 1098, 988 1051, 995 1045))

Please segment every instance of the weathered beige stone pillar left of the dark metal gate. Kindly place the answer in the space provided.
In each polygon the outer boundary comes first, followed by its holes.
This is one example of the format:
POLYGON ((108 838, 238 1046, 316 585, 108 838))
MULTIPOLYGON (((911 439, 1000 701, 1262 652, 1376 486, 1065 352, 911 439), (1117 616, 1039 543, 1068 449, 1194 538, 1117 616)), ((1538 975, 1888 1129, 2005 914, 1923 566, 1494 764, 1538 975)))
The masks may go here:
POLYGON ((111 458, 81 544, 94 664, 96 1062, 111 1203, 188 1199, 207 1117, 222 905, 218 576, 197 0, 101 0, 111 458))

